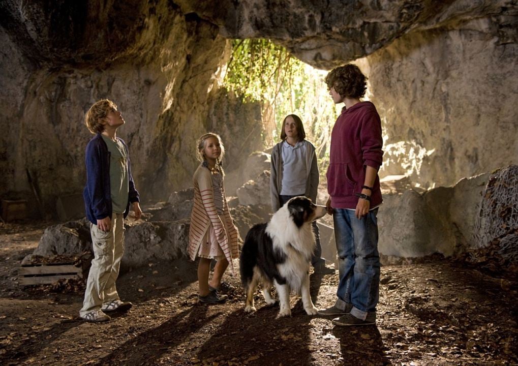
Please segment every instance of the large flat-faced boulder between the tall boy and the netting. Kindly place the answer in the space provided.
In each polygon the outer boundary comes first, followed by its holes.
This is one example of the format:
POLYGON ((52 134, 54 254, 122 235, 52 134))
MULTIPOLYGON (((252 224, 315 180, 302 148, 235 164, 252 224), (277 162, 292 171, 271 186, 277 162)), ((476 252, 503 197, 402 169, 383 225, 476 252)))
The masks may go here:
POLYGON ((384 195, 378 213, 379 252, 386 256, 452 256, 465 252, 488 174, 423 194, 384 195))

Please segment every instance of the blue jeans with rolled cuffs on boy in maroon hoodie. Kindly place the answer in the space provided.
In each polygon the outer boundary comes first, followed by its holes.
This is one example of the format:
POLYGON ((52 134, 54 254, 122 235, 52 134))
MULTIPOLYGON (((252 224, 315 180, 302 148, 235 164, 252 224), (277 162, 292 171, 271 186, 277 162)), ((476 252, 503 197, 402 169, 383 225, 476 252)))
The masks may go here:
POLYGON ((361 219, 354 210, 335 209, 335 240, 340 282, 338 299, 353 305, 351 314, 365 320, 375 312, 380 291, 378 209, 361 219))

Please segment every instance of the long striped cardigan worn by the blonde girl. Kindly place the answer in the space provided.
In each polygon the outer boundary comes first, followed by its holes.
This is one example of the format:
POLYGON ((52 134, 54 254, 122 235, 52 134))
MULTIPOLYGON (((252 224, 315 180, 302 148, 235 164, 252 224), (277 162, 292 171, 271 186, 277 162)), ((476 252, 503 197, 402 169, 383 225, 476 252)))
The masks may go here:
POLYGON ((228 210, 223 184, 222 215, 218 215, 214 203, 210 170, 200 164, 194 172, 193 184, 194 204, 189 229, 189 257, 195 260, 200 245, 206 244, 207 239, 215 240, 228 260, 232 272, 235 273, 232 259, 239 257, 239 233, 228 210))

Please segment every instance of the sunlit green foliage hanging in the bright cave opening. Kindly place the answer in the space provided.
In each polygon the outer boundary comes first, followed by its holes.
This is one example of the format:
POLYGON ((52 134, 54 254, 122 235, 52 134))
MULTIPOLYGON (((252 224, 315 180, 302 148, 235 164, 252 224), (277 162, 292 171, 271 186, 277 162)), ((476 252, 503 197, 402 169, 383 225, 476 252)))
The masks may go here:
POLYGON ((280 140, 287 114, 300 116, 319 165, 326 168, 330 131, 339 110, 328 95, 325 75, 267 39, 240 39, 232 41, 223 84, 244 100, 261 104, 266 146, 280 140))

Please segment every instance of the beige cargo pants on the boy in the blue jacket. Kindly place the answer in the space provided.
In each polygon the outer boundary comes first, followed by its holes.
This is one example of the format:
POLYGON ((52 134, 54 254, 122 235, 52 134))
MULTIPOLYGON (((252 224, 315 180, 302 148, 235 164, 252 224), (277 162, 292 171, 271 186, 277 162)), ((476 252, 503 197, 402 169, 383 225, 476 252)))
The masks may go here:
POLYGON ((124 253, 124 215, 113 213, 110 231, 102 231, 97 225, 90 223, 90 233, 95 257, 88 273, 80 316, 100 310, 103 303, 119 300, 115 282, 124 253))

